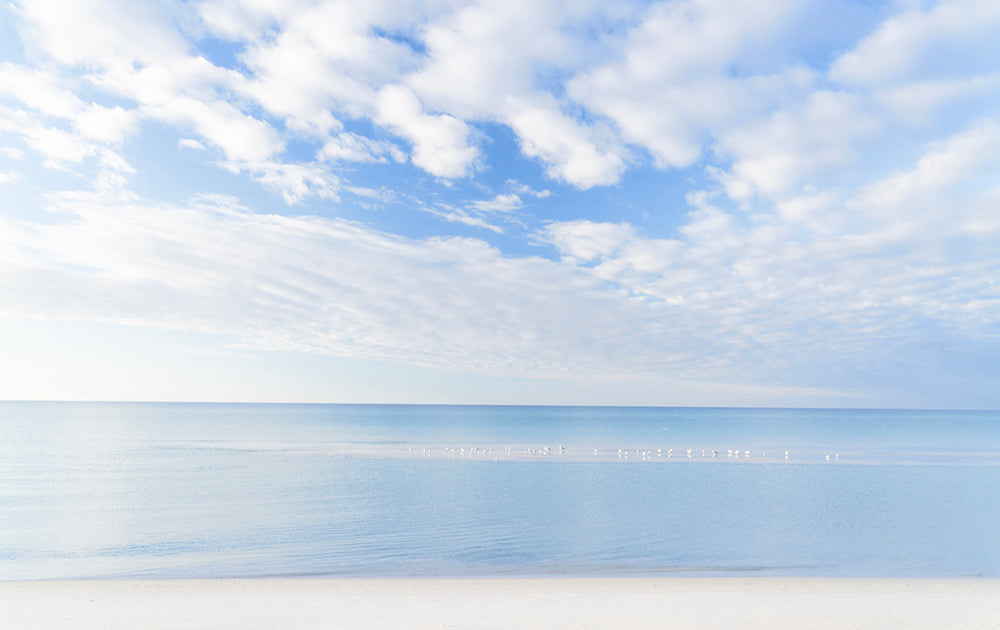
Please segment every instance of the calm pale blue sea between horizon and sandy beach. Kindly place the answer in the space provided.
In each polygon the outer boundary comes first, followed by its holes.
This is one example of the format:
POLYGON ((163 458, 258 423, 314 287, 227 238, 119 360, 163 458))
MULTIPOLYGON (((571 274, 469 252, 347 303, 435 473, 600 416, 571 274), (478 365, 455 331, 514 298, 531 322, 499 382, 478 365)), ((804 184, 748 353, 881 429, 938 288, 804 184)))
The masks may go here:
POLYGON ((1000 413, 0 403, 0 579, 1000 577, 1000 413))

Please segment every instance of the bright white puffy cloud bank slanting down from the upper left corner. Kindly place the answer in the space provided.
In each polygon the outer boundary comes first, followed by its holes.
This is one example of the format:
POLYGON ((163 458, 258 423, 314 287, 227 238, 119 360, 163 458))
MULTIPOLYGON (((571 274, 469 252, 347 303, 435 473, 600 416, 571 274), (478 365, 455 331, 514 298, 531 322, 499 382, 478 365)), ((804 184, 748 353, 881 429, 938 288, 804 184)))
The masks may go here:
MULTIPOLYGON (((61 93, 41 87, 29 90, 41 95, 32 102, 48 110, 69 103, 63 113, 72 114, 79 132, 38 122, 23 132, 28 145, 43 153, 50 166, 98 155, 101 144, 120 144, 141 119, 154 119, 196 133, 197 139, 188 140, 218 149, 224 167, 251 174, 289 203, 306 195, 336 198, 335 176, 317 165, 285 163, 280 159, 285 147, 281 134, 243 111, 242 103, 229 100, 230 90, 245 89, 243 77, 189 54, 188 43, 156 6, 114 1, 64 5, 44 0, 21 7, 20 14, 23 32, 33 38, 37 54, 44 51, 65 64, 86 66, 92 85, 138 104, 135 109, 107 107, 59 100, 61 93)), ((37 86, 54 82, 48 75, 30 75, 26 81, 37 86)), ((194 147, 190 142, 184 146, 194 147)))

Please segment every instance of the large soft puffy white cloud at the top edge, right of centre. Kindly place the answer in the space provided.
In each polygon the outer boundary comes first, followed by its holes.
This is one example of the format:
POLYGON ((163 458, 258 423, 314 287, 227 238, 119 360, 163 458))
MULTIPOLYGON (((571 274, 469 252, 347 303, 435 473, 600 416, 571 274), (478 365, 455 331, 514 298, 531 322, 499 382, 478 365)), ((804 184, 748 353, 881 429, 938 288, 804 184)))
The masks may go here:
POLYGON ((765 44, 798 2, 658 3, 628 33, 620 59, 589 68, 568 91, 615 122, 660 168, 695 162, 720 134, 781 103, 812 80, 801 67, 731 76, 765 44))

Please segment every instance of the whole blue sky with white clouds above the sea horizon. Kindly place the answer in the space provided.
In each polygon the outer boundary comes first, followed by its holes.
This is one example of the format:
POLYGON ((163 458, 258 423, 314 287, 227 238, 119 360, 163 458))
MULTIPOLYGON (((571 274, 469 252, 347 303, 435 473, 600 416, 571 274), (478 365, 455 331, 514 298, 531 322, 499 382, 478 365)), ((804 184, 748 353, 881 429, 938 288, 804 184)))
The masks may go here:
POLYGON ((0 399, 1000 408, 998 33, 3 0, 0 399))

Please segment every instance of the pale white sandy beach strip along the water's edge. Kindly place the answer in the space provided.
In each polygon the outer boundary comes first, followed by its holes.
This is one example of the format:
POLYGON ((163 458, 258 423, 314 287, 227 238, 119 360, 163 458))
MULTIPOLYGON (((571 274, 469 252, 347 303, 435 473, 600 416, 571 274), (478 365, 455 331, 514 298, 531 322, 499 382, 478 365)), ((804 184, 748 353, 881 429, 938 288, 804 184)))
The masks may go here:
POLYGON ((5 628, 1000 628, 1000 580, 0 582, 5 628))

